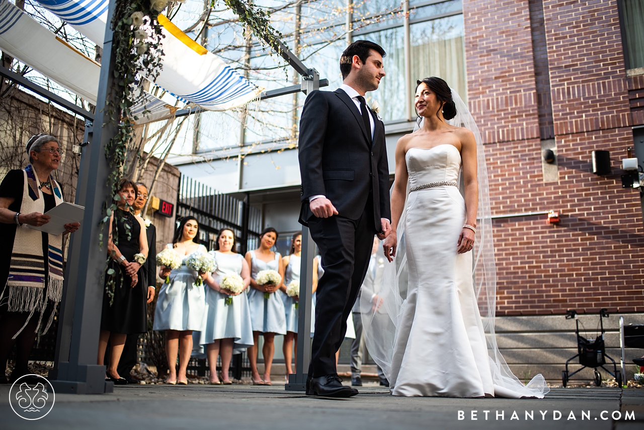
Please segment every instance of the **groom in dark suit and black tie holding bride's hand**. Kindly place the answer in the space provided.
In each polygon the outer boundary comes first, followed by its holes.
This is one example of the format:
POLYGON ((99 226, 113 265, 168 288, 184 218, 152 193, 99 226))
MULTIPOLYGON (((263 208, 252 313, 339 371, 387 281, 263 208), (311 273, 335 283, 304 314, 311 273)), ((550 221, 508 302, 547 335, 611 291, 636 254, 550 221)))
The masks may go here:
POLYGON ((384 55, 373 42, 350 44, 340 59, 342 86, 308 94, 299 122, 299 222, 308 226, 325 269, 317 284, 307 395, 358 393, 341 384, 336 351, 365 279, 374 233, 384 239, 391 231, 384 124, 365 102, 384 77, 384 55))

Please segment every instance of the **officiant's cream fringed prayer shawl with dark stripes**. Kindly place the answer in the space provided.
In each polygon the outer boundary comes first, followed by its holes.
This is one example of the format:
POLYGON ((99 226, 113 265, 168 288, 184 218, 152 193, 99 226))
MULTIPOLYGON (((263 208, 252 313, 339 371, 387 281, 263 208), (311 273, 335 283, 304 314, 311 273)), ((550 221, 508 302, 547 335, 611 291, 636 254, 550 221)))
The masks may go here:
MULTIPOLYGON (((32 166, 24 170, 24 187, 21 213, 44 213, 44 197, 40 181, 32 166)), ((61 187, 49 178, 56 206, 63 202, 61 187)), ((6 300, 9 312, 29 312, 23 331, 35 313, 39 313, 36 330, 43 319, 48 302, 60 302, 62 297, 62 235, 48 234, 48 255, 43 255, 43 233, 23 224, 15 230, 14 248, 11 254, 9 277, 0 294, 0 302, 6 300), (45 273, 45 259, 48 273, 45 273), (47 282, 45 282, 45 279, 47 282)), ((52 324, 54 310, 48 318, 43 334, 52 324)))

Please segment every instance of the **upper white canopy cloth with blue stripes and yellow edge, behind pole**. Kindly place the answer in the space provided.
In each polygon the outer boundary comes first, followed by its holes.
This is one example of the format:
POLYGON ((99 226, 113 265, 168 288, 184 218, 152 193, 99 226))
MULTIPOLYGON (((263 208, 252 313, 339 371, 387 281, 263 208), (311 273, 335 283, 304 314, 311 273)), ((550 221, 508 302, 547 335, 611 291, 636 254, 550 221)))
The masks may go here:
MULTIPOLYGON (((109 0, 37 0, 99 46, 103 45, 109 0)), ((182 32, 174 29, 173 32, 182 32)), ((163 69, 155 83, 184 103, 207 110, 228 110, 256 99, 263 90, 219 57, 200 55, 163 30, 163 69)), ((201 49, 201 48, 200 48, 201 49)))

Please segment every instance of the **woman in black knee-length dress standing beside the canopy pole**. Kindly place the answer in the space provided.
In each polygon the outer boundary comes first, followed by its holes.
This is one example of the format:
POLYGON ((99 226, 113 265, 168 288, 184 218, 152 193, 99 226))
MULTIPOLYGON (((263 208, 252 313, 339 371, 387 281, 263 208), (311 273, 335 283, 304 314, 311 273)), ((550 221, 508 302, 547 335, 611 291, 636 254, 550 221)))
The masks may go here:
POLYGON ((127 336, 147 331, 147 282, 142 269, 147 258, 146 225, 131 210, 137 192, 134 182, 122 179, 118 186, 118 209, 109 217, 110 261, 105 275, 98 364, 104 362, 109 340, 106 374, 115 384, 128 383, 117 371, 127 336))

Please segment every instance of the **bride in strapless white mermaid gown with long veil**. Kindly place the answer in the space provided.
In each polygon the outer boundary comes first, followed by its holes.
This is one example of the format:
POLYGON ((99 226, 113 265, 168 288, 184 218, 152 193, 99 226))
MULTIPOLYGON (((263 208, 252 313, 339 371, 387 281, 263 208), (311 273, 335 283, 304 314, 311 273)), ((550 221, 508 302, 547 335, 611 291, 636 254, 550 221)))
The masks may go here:
POLYGON ((543 376, 524 386, 496 343, 488 177, 478 128, 439 77, 418 81, 415 108, 421 127, 395 150, 383 306, 361 304, 372 309, 362 314, 368 350, 392 395, 543 397, 543 376))

